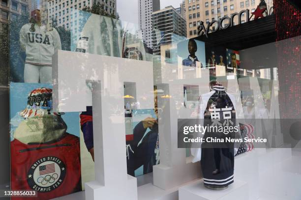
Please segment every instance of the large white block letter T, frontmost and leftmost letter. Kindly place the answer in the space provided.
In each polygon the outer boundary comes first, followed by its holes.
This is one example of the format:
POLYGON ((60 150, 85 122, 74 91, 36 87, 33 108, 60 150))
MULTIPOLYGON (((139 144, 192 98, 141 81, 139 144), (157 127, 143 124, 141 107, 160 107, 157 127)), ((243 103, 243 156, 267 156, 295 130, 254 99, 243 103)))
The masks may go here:
POLYGON ((53 78, 57 112, 86 111, 91 83, 96 177, 86 183, 86 200, 137 200, 126 169, 123 86, 135 83, 140 108, 154 108, 152 62, 59 50, 53 78))

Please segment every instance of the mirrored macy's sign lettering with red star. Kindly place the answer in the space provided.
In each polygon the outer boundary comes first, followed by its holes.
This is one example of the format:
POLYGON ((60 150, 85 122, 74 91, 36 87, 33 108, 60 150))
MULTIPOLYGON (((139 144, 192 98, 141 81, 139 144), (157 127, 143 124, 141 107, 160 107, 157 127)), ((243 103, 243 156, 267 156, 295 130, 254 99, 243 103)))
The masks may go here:
MULTIPOLYGON (((268 15, 266 7, 260 8, 260 6, 257 6, 256 10, 254 12, 252 12, 251 14, 252 14, 252 16, 254 15, 254 20, 256 20, 260 17, 261 18, 264 17, 264 15, 263 15, 264 12, 266 12, 266 15, 268 15)), ((271 14, 271 10, 270 10, 270 14, 271 14)), ((205 34, 206 37, 208 38, 208 33, 213 33, 218 30, 223 30, 223 29, 232 27, 234 25, 234 20, 235 20, 236 16, 238 17, 238 24, 241 24, 244 22, 249 22, 249 21, 251 21, 251 18, 252 18, 252 16, 250 17, 249 9, 245 9, 245 10, 241 10, 240 13, 233 13, 231 15, 231 17, 224 16, 224 17, 220 18, 219 20, 213 20, 210 23, 207 23, 207 27, 205 27, 204 22, 201 21, 201 24, 198 26, 197 34, 198 34, 198 36, 205 34), (243 15, 245 15, 245 16, 243 16, 243 15), (242 20, 244 20, 244 22, 242 22, 242 20), (213 26, 215 28, 212 28, 213 26)))

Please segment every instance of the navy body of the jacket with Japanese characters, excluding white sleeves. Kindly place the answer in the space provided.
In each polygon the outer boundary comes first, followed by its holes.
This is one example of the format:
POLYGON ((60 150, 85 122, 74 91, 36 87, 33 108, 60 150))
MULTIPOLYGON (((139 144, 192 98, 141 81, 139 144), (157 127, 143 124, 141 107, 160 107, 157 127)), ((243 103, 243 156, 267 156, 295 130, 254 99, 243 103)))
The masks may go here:
MULTIPOLYGON (((214 87, 213 87, 214 90, 214 87)), ((232 107, 231 121, 228 126, 234 126, 236 122, 235 109, 228 94, 222 90, 215 90, 215 93, 210 97, 207 109, 204 113, 204 126, 212 125, 211 111, 209 108, 222 109, 232 107)), ((217 120, 221 126, 225 122, 222 111, 219 112, 220 118, 217 120)), ((216 121, 213 117, 213 121, 216 121)), ((220 126, 220 125, 216 125, 220 126)), ((204 177, 204 184, 211 187, 225 187, 234 182, 234 143, 209 143, 207 138, 219 138, 226 141, 226 137, 235 138, 234 133, 224 134, 223 132, 208 132, 204 134, 205 142, 202 143, 201 154, 201 169, 204 177), (213 171, 219 170, 218 174, 213 174, 213 171)))

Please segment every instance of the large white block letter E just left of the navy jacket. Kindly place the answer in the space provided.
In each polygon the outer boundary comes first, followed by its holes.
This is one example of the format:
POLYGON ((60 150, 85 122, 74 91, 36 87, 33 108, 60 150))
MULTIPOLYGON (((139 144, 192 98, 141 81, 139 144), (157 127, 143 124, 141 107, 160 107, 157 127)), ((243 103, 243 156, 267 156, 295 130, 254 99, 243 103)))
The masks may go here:
POLYGON ((168 190, 201 177, 200 162, 192 163, 186 149, 178 148, 178 119, 197 118, 198 98, 209 92, 209 70, 161 63, 161 72, 157 83, 160 164, 153 166, 153 184, 168 190), (190 87, 196 98, 187 100, 184 87, 190 87))

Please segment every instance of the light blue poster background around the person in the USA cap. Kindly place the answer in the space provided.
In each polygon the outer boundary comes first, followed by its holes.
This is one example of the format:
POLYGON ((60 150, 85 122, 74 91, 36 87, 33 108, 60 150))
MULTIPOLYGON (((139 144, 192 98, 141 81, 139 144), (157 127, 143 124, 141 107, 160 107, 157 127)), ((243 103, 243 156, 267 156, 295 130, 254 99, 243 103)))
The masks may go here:
MULTIPOLYGON (((43 83, 10 83, 10 120, 23 119, 18 117, 18 112, 27 107, 29 93, 39 87, 52 88, 51 84, 43 83)), ((65 113, 62 119, 68 126, 67 132, 79 137, 79 113, 65 113)), ((18 122, 14 121, 14 125, 18 125, 18 122)))

